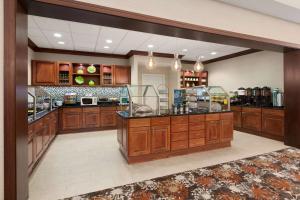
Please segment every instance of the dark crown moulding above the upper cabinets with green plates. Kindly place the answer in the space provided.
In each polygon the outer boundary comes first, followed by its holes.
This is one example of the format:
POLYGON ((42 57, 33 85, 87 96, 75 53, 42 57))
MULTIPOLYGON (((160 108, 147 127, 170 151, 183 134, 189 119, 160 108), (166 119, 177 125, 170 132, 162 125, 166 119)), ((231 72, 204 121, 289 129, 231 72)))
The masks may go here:
POLYGON ((42 53, 56 53, 56 54, 69 54, 78 56, 94 56, 94 57, 105 57, 105 58, 119 58, 127 59, 126 55, 121 54, 109 54, 109 53, 96 53, 96 52, 86 52, 86 51, 74 51, 74 50, 64 50, 64 49, 49 49, 49 48, 35 48, 35 52, 42 53))

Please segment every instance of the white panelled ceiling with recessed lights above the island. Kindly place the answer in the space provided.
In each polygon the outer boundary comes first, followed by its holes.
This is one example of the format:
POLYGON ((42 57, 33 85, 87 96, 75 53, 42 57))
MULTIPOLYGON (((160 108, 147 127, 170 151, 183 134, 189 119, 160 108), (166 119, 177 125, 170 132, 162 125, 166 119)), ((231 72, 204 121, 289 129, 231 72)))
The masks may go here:
POLYGON ((202 56, 205 61, 247 49, 32 15, 28 16, 28 37, 40 48, 122 55, 131 50, 152 50, 179 53, 184 55, 184 60, 196 60, 202 56), (61 34, 61 37, 54 37, 55 33, 61 34), (60 41, 64 44, 59 44, 60 41), (153 47, 149 48, 149 45, 153 47))

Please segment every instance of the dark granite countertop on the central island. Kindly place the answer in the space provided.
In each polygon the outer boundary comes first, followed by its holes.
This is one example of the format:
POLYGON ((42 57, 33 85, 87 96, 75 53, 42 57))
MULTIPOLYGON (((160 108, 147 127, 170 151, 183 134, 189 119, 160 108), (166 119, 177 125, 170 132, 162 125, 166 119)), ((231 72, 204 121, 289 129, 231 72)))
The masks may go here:
POLYGON ((147 118, 147 117, 168 117, 168 116, 184 116, 184 115, 201 115, 201 114, 215 114, 215 113, 228 113, 232 111, 220 111, 220 112, 189 112, 189 113, 173 113, 173 112, 168 112, 168 113, 148 113, 148 114, 140 114, 140 115, 133 115, 130 116, 128 111, 118 111, 118 115, 120 115, 123 118, 128 118, 128 119, 137 119, 137 118, 147 118))

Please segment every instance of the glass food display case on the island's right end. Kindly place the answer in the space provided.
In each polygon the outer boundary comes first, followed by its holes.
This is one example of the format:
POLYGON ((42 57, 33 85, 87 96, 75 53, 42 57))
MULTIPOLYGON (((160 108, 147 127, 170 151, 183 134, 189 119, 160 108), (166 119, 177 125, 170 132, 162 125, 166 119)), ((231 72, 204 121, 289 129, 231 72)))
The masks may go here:
POLYGON ((188 88, 185 95, 190 112, 230 111, 230 97, 221 86, 188 88))

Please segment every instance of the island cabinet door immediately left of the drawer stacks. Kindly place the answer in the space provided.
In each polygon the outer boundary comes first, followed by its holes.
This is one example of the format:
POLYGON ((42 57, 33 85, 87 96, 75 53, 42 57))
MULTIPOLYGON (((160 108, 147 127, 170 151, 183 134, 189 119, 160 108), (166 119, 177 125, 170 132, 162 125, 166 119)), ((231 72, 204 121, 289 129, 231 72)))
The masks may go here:
POLYGON ((151 153, 170 151, 170 126, 151 128, 151 153))

